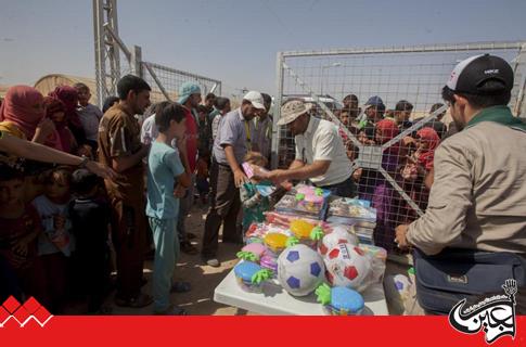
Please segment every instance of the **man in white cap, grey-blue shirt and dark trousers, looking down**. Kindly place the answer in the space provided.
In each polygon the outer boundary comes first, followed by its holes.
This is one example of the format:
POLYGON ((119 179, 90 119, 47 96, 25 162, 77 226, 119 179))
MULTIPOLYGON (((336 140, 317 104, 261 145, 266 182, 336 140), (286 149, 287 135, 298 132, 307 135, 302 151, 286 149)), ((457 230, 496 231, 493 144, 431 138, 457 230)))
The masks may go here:
POLYGON ((216 258, 219 228, 223 223, 222 241, 241 241, 241 230, 236 230, 236 218, 240 211, 239 187, 246 181, 241 164, 251 150, 253 129, 252 119, 265 112, 261 93, 249 91, 243 97, 240 108, 221 119, 214 142, 214 163, 210 169, 211 188, 215 196, 210 200, 210 209, 206 216, 205 233, 201 255, 211 267, 219 267, 216 258))

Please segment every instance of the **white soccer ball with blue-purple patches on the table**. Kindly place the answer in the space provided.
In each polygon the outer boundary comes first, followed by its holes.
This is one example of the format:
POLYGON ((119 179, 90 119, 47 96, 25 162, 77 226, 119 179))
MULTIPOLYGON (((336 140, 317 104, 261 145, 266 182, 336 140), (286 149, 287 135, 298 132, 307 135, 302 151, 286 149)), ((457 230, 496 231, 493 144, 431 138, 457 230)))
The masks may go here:
POLYGON ((278 280, 294 296, 312 293, 325 280, 322 257, 304 244, 286 248, 278 258, 278 280))

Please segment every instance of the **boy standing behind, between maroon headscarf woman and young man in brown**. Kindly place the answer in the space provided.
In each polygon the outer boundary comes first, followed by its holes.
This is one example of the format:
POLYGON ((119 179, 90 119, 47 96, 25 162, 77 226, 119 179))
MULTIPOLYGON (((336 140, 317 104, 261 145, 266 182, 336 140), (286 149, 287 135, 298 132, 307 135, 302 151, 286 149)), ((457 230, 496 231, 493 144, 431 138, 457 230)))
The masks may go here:
POLYGON ((88 86, 85 83, 75 83, 73 86, 78 93, 78 108, 77 113, 82 123, 84 131, 86 132, 86 140, 88 144, 93 149, 93 153, 97 153, 97 137, 99 133, 99 123, 102 118, 102 112, 93 104, 89 103, 91 92, 88 86))

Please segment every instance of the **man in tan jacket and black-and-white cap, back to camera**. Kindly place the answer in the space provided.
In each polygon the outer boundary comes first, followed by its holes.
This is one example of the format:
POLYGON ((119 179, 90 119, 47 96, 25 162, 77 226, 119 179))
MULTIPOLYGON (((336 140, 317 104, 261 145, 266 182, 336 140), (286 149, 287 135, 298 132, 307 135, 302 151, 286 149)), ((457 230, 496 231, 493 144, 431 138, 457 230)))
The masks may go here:
MULTIPOLYGON (((512 88, 511 66, 489 54, 460 62, 444 87, 442 98, 461 131, 435 152, 434 183, 425 214, 396 230, 399 247, 420 250, 415 253, 416 272, 419 255, 440 257, 451 249, 511 254, 524 264, 526 125, 506 106, 512 88)), ((508 267, 484 271, 484 282, 500 292, 498 272, 508 271, 508 267)), ((516 270, 510 273, 516 274, 516 270)), ((518 271, 524 282, 524 266, 518 271)), ((463 293, 470 293, 467 282, 464 284, 467 290, 463 293)))

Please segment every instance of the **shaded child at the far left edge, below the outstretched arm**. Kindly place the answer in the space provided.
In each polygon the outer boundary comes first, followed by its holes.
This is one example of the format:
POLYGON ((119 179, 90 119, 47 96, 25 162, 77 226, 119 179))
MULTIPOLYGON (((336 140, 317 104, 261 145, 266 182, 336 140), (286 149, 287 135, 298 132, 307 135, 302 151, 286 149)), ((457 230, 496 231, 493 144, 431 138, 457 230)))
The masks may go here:
POLYGON ((35 295, 36 239, 42 228, 37 210, 23 197, 22 171, 0 164, 1 303, 10 295, 20 301, 35 295))

